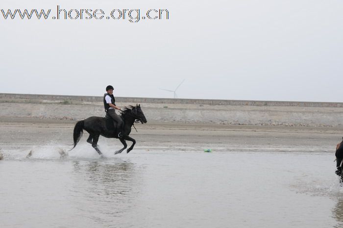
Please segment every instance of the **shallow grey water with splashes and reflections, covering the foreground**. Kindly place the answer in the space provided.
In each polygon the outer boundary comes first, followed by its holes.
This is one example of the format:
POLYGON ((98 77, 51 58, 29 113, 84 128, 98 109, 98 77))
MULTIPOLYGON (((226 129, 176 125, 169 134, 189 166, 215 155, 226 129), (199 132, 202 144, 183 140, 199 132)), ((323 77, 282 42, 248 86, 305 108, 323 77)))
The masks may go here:
POLYGON ((343 227, 332 153, 58 150, 4 154, 1 228, 343 227))

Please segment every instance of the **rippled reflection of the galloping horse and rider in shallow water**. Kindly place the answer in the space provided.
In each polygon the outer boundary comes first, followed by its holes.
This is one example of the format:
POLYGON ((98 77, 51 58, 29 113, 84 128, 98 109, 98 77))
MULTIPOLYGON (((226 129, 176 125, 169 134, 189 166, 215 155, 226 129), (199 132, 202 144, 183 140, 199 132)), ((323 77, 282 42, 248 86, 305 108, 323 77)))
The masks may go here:
POLYGON ((131 210, 140 195, 142 178, 130 162, 74 161, 73 171, 73 203, 97 223, 113 222, 131 210))

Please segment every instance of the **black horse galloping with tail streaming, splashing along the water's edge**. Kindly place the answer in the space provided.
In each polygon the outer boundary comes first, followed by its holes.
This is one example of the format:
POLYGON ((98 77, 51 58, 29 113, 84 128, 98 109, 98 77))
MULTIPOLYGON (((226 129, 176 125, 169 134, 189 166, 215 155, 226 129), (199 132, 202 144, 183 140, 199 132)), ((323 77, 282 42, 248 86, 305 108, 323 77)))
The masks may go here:
MULTIPOLYGON (((124 132, 125 135, 123 138, 119 138, 119 140, 123 143, 124 147, 119 151, 116 151, 115 154, 121 153, 123 150, 126 149, 127 144, 125 140, 131 141, 132 145, 127 149, 127 152, 130 152, 133 149, 133 146, 136 144, 136 140, 128 136, 131 132, 131 127, 136 122, 147 123, 147 119, 141 109, 141 105, 136 106, 128 106, 124 107, 122 111, 122 118, 124 121, 124 132)), ((89 133, 89 137, 87 142, 92 144, 92 147, 102 155, 101 151, 98 148, 98 139, 99 136, 102 135, 106 138, 118 138, 118 127, 113 125, 113 120, 111 117, 97 117, 92 116, 85 120, 81 120, 76 123, 74 127, 73 139, 74 139, 74 147, 80 141, 83 130, 86 130, 89 133), (109 119, 108 119, 109 118, 109 119)), ((119 130, 120 131, 120 130, 119 130)), ((71 149, 73 150, 74 147, 71 149)))

